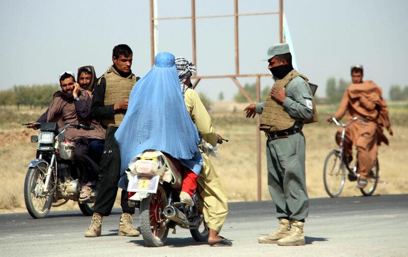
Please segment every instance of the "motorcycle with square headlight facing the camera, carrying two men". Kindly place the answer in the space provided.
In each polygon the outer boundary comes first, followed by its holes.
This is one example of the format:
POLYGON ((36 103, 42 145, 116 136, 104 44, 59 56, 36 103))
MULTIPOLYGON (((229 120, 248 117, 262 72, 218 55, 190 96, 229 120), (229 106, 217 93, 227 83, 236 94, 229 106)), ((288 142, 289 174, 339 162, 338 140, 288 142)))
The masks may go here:
MULTIPOLYGON (((69 200, 78 202, 81 212, 93 215, 98 183, 92 189, 91 197, 81 201, 81 185, 75 169, 74 144, 65 140, 68 127, 93 130, 91 126, 80 123, 67 123, 59 132, 56 122, 23 123, 29 128, 40 129, 38 135, 31 136, 32 143, 39 143, 36 159, 28 166, 24 179, 24 201, 29 214, 36 219, 47 216, 51 207, 59 207, 69 200), (62 201, 60 201, 62 200, 62 201)), ((98 179, 99 180, 99 179, 98 179)))

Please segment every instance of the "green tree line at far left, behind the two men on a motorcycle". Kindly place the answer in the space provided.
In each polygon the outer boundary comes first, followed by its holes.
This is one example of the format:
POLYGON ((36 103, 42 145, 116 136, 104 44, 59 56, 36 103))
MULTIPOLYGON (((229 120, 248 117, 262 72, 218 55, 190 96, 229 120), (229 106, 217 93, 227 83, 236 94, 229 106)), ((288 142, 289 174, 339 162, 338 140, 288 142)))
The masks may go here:
POLYGON ((0 105, 17 106, 20 105, 45 107, 48 106, 53 99, 53 95, 60 89, 58 84, 44 85, 14 85, 12 89, 0 91, 0 105))

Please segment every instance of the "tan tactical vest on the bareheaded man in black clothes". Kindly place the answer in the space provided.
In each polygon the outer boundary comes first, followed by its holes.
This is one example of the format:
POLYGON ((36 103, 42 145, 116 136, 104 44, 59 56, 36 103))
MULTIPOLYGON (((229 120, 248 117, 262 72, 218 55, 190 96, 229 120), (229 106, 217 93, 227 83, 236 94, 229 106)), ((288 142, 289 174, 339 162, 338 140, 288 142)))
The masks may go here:
MULTIPOLYGON (((105 106, 114 105, 125 99, 129 99, 133 86, 136 84, 135 74, 123 78, 119 73, 110 67, 101 78, 105 78, 106 89, 105 89, 105 106)), ((100 79, 98 85, 100 84, 100 79)), ((105 126, 118 127, 123 120, 125 110, 115 111, 115 116, 113 119, 102 119, 101 122, 105 126)))

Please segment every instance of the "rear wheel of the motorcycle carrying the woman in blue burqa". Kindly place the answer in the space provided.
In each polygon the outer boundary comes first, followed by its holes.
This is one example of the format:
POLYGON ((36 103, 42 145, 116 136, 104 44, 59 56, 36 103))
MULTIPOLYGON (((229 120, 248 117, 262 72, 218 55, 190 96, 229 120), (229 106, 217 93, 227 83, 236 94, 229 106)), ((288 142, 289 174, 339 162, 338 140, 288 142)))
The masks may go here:
POLYGON ((164 219, 163 210, 167 206, 167 194, 162 185, 156 194, 150 194, 140 201, 139 219, 143 241, 147 246, 163 246, 169 228, 160 222, 164 219))

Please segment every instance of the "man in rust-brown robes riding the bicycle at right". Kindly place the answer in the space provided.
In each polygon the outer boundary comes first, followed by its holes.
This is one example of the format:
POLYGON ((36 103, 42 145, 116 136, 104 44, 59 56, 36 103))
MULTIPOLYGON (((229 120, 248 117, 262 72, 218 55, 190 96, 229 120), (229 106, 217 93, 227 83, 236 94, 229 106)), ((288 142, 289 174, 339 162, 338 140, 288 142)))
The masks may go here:
MULTIPOLYGON (((346 128, 346 140, 344 142, 344 158, 347 163, 352 160, 352 146, 358 151, 358 185, 359 188, 367 186, 367 178, 372 175, 371 169, 377 158, 377 145, 381 142, 389 144, 382 129, 387 128, 393 135, 389 120, 388 107, 382 99, 382 91, 374 82, 363 81, 363 66, 351 66, 352 84, 348 86, 340 102, 340 108, 334 117, 340 120, 348 111, 347 121, 353 117, 361 117, 367 121, 356 121, 346 128)), ((331 122, 332 117, 327 121, 331 122)), ((341 130, 336 134, 336 142, 339 144, 341 130)), ((349 177, 350 178, 350 177, 349 177)), ((351 180, 351 178, 350 178, 351 180)))

